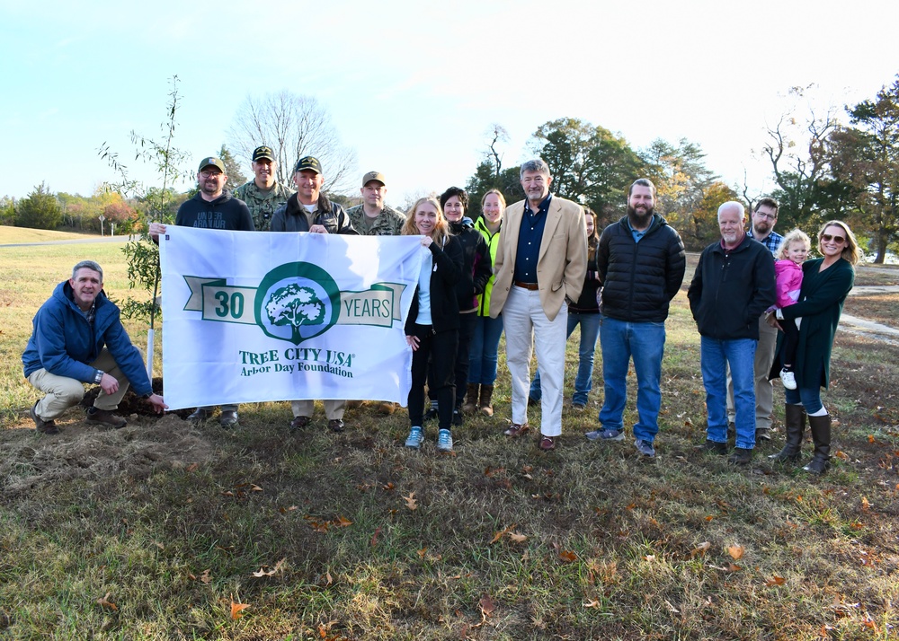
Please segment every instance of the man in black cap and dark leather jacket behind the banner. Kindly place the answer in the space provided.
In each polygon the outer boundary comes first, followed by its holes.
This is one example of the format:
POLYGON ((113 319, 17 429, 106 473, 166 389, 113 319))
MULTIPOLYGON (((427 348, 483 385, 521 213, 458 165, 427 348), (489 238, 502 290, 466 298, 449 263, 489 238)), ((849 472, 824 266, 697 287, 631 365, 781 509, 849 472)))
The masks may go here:
MULTIPOLYGON (((346 233, 358 235, 352 228, 349 216, 343 206, 331 202, 322 193, 325 176, 322 163, 314 156, 304 156, 293 171, 293 182, 297 193, 288 198, 287 203, 278 207, 271 218, 272 232, 346 233)), ((309 425, 315 401, 294 400, 290 403, 293 420, 290 430, 295 431, 309 425)), ((325 400, 325 417, 333 432, 343 432, 343 410, 345 400, 325 400)))

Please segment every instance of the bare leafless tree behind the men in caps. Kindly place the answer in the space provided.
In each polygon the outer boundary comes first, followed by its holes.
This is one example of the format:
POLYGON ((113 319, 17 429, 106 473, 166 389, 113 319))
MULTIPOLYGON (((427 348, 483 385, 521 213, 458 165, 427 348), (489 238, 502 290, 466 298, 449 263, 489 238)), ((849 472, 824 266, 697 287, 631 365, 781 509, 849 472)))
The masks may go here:
POLYGON ((227 132, 228 145, 247 164, 253 150, 268 145, 278 162, 278 181, 290 184, 293 168, 306 155, 325 170, 325 191, 347 189, 356 178, 356 152, 340 142, 331 116, 311 96, 283 90, 262 98, 247 96, 227 132))

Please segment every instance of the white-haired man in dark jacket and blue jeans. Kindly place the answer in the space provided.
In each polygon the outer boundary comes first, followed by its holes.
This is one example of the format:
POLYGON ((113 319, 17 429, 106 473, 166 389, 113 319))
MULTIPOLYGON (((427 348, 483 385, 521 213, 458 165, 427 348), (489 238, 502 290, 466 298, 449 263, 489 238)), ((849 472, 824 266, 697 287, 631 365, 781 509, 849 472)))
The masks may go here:
POLYGON ((701 336, 702 382, 706 388, 708 428, 705 449, 727 451, 726 371, 730 366, 736 408, 736 447, 729 461, 746 465, 755 447, 755 348, 759 316, 774 304, 774 259, 743 224, 738 202, 718 207, 721 241, 699 256, 687 297, 701 336))

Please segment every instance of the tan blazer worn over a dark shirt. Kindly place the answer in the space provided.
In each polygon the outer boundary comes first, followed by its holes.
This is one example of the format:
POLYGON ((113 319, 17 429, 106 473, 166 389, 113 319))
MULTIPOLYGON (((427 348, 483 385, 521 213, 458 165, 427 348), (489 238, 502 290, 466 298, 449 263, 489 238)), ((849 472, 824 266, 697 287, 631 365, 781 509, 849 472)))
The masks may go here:
MULTIPOLYGON (((523 200, 510 205, 503 215, 503 231, 494 262, 496 282, 490 296, 490 315, 493 318, 503 312, 509 290, 514 286, 512 275, 515 273, 518 233, 523 216, 523 200)), ((566 296, 570 301, 578 299, 586 275, 587 224, 584 222, 583 207, 553 196, 549 201, 547 224, 543 229, 537 260, 540 304, 548 320, 556 318, 566 296)))

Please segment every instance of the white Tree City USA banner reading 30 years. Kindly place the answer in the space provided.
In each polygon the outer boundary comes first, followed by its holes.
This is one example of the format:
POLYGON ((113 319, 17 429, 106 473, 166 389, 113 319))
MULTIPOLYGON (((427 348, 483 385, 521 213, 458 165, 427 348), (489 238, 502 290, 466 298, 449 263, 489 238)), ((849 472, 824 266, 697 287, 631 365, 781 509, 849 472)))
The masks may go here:
POLYGON ((170 408, 396 401, 412 384, 405 319, 419 236, 222 232, 168 225, 163 378, 170 408))

